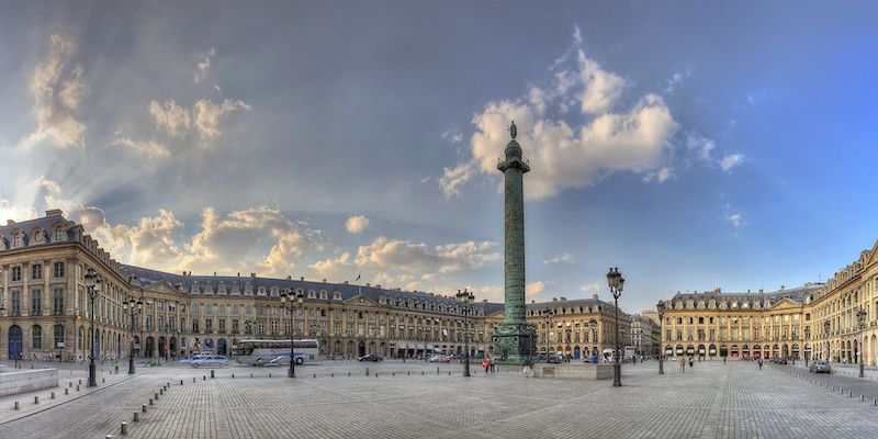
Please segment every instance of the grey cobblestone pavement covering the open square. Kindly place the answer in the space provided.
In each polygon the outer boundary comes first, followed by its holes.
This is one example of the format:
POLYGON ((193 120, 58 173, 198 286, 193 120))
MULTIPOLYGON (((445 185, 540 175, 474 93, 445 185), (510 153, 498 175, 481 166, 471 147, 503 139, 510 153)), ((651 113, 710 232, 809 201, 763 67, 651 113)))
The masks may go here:
POLYGON ((485 374, 474 364, 465 378, 462 364, 412 361, 306 364, 296 379, 285 368, 179 363, 128 375, 125 364, 120 374, 99 369, 94 389, 85 387, 87 365, 61 365, 59 387, 0 397, 0 438, 870 438, 878 430, 874 380, 860 379, 858 390, 873 393, 860 401, 831 387, 849 379, 803 367, 707 361, 679 373, 665 365, 660 375, 655 362, 626 364, 623 385, 612 387, 612 380, 526 379, 511 367, 485 374))

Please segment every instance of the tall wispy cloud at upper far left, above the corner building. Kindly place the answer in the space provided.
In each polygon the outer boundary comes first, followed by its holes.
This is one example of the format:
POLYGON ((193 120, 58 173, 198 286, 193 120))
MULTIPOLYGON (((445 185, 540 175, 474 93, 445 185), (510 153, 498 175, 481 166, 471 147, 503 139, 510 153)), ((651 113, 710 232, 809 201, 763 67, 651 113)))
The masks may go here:
POLYGON ((22 139, 21 146, 31 147, 42 142, 63 148, 83 145, 86 124, 75 115, 85 93, 82 67, 66 64, 75 53, 76 45, 60 35, 49 37, 47 59, 34 68, 31 77, 37 126, 22 139))

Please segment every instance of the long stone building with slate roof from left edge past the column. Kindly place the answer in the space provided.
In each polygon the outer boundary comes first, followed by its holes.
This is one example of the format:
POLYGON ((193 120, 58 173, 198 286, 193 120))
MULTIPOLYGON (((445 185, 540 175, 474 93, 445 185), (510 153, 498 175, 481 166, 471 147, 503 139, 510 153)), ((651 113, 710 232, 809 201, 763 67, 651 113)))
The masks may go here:
MULTIPOLYGON (((481 357, 494 353, 492 334, 503 309, 481 301, 468 312, 453 293, 126 266, 58 210, 0 226, 0 354, 9 359, 87 361, 93 340, 99 361, 130 351, 161 361, 200 351, 234 354, 239 340, 291 336, 316 338, 326 359, 462 356, 466 346, 481 357), (101 280, 93 305, 85 283, 89 269, 101 280), (280 301, 288 290, 304 295, 292 316, 280 301), (142 302, 134 315, 125 307, 131 300, 142 302)), ((526 318, 539 328, 543 353, 579 358, 612 346, 612 305, 596 296, 530 303, 526 318)), ((619 319, 628 327, 627 314, 619 319)))

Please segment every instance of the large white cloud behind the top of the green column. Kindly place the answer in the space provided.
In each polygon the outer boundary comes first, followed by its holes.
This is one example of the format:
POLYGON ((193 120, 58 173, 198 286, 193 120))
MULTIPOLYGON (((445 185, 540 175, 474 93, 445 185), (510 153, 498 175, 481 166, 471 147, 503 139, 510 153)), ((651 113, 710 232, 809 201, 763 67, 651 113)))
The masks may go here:
POLYGON ((662 98, 646 94, 624 112, 610 112, 627 88, 624 79, 603 70, 582 52, 575 65, 575 74, 554 75, 552 92, 531 88, 517 100, 489 102, 474 115, 472 158, 446 168, 439 180, 447 198, 460 194, 476 170, 497 175, 503 145, 510 139, 510 121, 518 126, 518 143, 534 170, 527 177, 528 200, 587 187, 611 172, 633 171, 660 182, 673 176, 663 161, 677 123, 662 98), (549 116, 559 105, 570 108, 577 101, 583 117, 578 126, 549 116))

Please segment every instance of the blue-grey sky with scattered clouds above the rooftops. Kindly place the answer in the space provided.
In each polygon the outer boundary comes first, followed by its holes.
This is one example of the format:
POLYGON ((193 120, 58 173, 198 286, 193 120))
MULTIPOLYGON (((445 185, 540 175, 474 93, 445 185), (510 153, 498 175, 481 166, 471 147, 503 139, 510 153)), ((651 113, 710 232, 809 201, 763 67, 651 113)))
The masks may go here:
POLYGON ((503 302, 821 282, 878 239, 871 1, 29 1, 0 15, 0 221, 123 263, 503 302))

